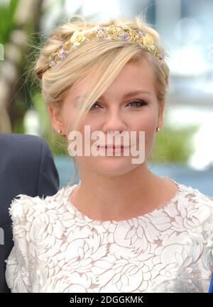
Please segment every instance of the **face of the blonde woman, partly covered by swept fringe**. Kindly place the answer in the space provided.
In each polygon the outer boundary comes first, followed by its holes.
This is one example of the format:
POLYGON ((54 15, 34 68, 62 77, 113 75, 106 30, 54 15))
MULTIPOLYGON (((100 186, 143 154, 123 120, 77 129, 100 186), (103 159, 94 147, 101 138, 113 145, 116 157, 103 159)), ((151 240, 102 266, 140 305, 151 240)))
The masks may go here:
MULTIPOLYGON (((60 113, 62 121, 62 130, 69 135, 70 123, 74 119, 75 101, 77 96, 84 94, 87 88, 87 82, 91 75, 88 75, 81 82, 78 82, 72 92, 66 97, 60 113)), ((154 89, 153 71, 151 65, 146 60, 141 62, 129 62, 116 77, 114 82, 104 92, 102 97, 92 106, 87 116, 82 122, 80 133, 84 149, 84 126, 90 126, 90 133, 101 131, 105 136, 107 143, 107 132, 116 131, 117 133, 127 131, 136 131, 136 149, 139 150, 139 131, 145 132, 145 160, 153 147, 155 132, 157 127, 161 127, 163 121, 163 110, 160 108, 154 89), (138 93, 133 93, 138 92, 138 93)), ((97 138, 98 140, 98 138, 97 138)), ((97 140, 90 140, 90 145, 97 144, 97 140)), ((114 141, 115 143, 115 141, 114 141)), ((135 142, 133 142, 135 143, 135 142)), ((121 139, 121 144, 124 141, 121 139)), ((130 145, 130 144, 129 144, 130 145)), ((102 149, 105 152, 105 149, 102 149)), ((103 151, 102 151, 103 152, 103 151)), ((115 153, 110 156, 75 156, 80 170, 82 167, 89 172, 97 172, 109 177, 126 174, 132 169, 140 166, 133 164, 132 159, 135 156, 125 156, 122 152, 120 156, 115 153)))

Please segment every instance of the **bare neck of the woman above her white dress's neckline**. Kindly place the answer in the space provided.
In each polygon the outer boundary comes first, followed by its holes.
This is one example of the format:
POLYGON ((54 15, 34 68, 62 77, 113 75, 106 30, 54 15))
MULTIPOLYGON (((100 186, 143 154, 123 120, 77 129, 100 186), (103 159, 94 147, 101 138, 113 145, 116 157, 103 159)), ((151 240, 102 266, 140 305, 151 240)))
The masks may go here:
POLYGON ((121 221, 153 210, 157 194, 165 186, 162 179, 146 164, 121 177, 102 177, 91 172, 80 172, 80 186, 73 191, 70 201, 85 216, 101 221, 121 221))

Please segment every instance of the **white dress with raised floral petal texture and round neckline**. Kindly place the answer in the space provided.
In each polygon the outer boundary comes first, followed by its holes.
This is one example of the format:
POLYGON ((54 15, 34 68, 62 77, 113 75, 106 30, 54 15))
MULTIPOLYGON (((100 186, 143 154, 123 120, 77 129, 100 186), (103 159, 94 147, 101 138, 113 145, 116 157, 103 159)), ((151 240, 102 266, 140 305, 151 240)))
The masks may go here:
POLYGON ((213 199, 178 184, 173 199, 150 213, 97 221, 70 203, 75 186, 13 199, 12 292, 208 292, 213 199))

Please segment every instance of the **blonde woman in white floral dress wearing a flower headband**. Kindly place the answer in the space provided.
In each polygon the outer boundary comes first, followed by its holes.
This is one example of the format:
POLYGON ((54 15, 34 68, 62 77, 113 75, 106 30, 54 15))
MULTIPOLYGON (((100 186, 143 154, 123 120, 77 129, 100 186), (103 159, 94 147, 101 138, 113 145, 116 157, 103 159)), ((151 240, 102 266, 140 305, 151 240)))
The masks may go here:
POLYGON ((13 200, 11 291, 208 291, 212 199, 156 176, 146 163, 163 126, 165 55, 158 33, 139 17, 65 23, 48 38, 35 74, 81 180, 45 199, 13 200), (89 138, 89 147, 107 155, 81 155, 79 148, 74 155, 70 133, 81 133, 85 149, 85 127, 104 135, 99 143, 89 138), (133 131, 136 138, 120 141, 116 155, 111 132, 133 131), (132 147, 144 150, 142 162, 132 162, 134 151, 124 155, 132 147))

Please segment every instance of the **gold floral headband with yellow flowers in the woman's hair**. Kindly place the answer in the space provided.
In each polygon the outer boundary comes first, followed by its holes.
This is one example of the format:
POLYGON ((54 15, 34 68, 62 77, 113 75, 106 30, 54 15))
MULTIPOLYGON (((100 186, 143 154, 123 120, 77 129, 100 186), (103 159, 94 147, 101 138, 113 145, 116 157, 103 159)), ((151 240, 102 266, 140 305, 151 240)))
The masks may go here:
POLYGON ((151 35, 148 33, 143 34, 140 30, 136 31, 129 26, 108 26, 100 27, 95 26, 93 28, 81 31, 75 31, 72 36, 65 43, 62 43, 55 53, 50 54, 50 67, 54 67, 58 62, 63 60, 67 53, 72 48, 77 48, 84 41, 94 39, 108 39, 108 40, 126 40, 131 43, 143 45, 149 50, 158 60, 163 60, 163 55, 158 52, 158 49, 154 45, 151 35))

